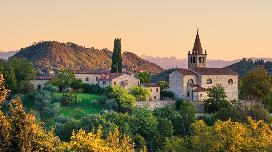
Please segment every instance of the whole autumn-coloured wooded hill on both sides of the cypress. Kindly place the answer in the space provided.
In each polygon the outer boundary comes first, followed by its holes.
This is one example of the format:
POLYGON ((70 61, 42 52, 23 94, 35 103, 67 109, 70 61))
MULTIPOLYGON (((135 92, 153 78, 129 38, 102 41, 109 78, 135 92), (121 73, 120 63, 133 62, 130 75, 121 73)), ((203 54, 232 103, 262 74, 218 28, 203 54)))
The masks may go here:
MULTIPOLYGON (((161 72, 164 69, 156 64, 142 60, 138 56, 123 55, 124 62, 138 66, 147 72, 161 72), (128 61, 129 60, 129 61, 128 61)), ((49 74, 49 70, 59 69, 98 70, 108 69, 111 66, 112 52, 94 47, 85 48, 75 43, 60 43, 57 41, 39 41, 31 46, 22 48, 15 54, 33 62, 37 75, 49 74)))

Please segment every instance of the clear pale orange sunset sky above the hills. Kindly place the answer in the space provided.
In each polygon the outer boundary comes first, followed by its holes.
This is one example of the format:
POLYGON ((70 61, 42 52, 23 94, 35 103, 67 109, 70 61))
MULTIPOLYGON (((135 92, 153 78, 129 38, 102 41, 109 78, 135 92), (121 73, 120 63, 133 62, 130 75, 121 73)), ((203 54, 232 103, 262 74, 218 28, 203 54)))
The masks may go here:
POLYGON ((186 58, 197 28, 207 58, 272 58, 271 0, 0 0, 0 50, 72 42, 138 56, 186 58))

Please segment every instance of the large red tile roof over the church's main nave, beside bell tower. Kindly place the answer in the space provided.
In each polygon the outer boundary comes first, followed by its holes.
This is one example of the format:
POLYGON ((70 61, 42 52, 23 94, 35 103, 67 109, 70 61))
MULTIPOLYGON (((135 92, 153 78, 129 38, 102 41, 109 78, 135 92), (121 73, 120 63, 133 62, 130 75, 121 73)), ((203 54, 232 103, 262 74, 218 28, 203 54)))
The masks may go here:
POLYGON ((223 68, 190 67, 190 68, 201 75, 228 75, 228 76, 239 75, 237 72, 233 71, 229 67, 223 67, 223 68))

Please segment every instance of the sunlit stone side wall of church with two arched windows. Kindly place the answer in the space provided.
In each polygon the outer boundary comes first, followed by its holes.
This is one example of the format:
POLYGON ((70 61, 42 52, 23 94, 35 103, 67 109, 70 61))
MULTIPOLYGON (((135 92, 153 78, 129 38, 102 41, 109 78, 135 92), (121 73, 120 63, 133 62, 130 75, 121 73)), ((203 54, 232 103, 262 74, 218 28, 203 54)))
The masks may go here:
POLYGON ((238 98, 238 76, 225 76, 225 75, 202 75, 201 87, 208 88, 221 84, 225 88, 227 94, 227 100, 238 98), (208 84, 207 79, 211 79, 212 83, 208 84), (232 79, 233 84, 228 84, 228 80, 232 79))

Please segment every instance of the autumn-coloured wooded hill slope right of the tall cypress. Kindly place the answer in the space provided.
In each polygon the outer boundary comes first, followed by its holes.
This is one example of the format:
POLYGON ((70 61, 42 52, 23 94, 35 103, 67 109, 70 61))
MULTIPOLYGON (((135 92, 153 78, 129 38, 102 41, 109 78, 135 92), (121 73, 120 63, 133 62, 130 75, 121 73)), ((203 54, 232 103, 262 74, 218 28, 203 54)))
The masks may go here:
POLYGON ((155 63, 150 63, 141 59, 134 53, 131 52, 124 52, 122 54, 122 64, 123 67, 132 67, 134 65, 137 66, 137 69, 144 70, 145 72, 162 72, 164 71, 159 65, 155 63))

